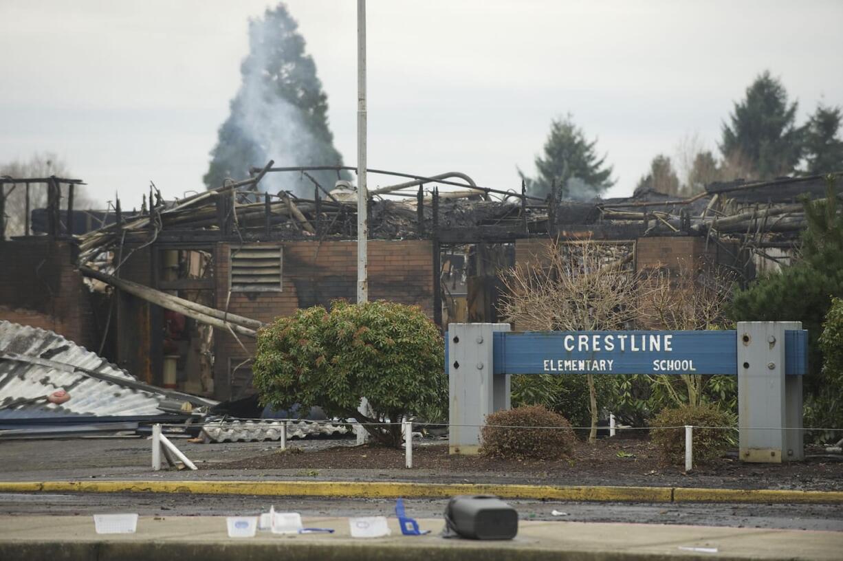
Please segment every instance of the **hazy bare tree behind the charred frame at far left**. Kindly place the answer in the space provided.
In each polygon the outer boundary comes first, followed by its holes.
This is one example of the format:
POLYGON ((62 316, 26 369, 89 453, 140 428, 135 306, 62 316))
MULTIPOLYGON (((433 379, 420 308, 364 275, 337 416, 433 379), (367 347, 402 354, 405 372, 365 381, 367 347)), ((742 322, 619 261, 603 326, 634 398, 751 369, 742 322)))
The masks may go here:
MULTIPOLYGON (((34 154, 29 160, 14 160, 0 164, 0 177, 8 175, 12 178, 35 177, 67 177, 70 175, 67 164, 51 152, 34 154)), ((24 184, 6 184, 3 186, 6 196, 6 235, 21 236, 26 223, 26 186, 24 184)), ((82 185, 76 185, 73 191, 73 203, 76 208, 84 208, 92 204, 92 200, 85 194, 82 185)), ((30 185, 30 211, 43 208, 47 204, 46 184, 30 185)))

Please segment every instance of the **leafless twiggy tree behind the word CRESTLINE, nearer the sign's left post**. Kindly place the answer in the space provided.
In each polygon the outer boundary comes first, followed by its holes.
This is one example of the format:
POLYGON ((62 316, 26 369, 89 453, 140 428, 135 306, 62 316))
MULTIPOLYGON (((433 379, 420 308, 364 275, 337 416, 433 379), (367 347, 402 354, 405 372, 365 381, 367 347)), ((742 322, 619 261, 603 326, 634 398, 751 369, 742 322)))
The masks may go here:
MULTIPOLYGON (((638 316, 638 275, 630 248, 593 242, 547 244, 534 264, 507 270, 500 311, 516 329, 590 331, 626 329, 638 316), (626 254, 622 253, 626 249, 626 254)), ((598 403, 587 374, 591 431, 597 439, 598 403)))

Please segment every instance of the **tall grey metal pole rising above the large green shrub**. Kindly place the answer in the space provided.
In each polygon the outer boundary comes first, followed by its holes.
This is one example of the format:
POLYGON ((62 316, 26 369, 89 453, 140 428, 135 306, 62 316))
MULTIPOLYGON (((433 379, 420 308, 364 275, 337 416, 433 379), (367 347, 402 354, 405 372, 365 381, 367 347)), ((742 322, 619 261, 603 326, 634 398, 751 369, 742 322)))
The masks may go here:
POLYGON ((357 303, 368 302, 366 189, 366 0, 357 0, 357 303))

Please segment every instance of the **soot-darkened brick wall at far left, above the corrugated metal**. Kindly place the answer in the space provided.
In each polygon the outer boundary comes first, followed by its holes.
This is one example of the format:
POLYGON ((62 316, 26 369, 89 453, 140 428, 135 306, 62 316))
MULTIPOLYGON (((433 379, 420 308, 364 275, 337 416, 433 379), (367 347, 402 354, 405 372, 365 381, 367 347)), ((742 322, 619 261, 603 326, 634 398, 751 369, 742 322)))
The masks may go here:
POLYGON ((91 293, 72 256, 70 243, 46 237, 0 242, 0 319, 96 350, 91 293))

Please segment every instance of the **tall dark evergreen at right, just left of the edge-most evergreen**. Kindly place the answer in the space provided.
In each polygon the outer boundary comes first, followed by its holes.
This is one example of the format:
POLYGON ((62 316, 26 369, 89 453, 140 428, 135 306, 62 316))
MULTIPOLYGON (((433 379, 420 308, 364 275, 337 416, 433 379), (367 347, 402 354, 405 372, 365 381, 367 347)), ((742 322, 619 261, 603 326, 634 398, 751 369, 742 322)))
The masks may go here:
POLYGON ((720 150, 733 174, 745 179, 773 179, 789 174, 801 158, 802 134, 794 124, 797 103, 765 71, 734 105, 730 124, 722 126, 720 150))

